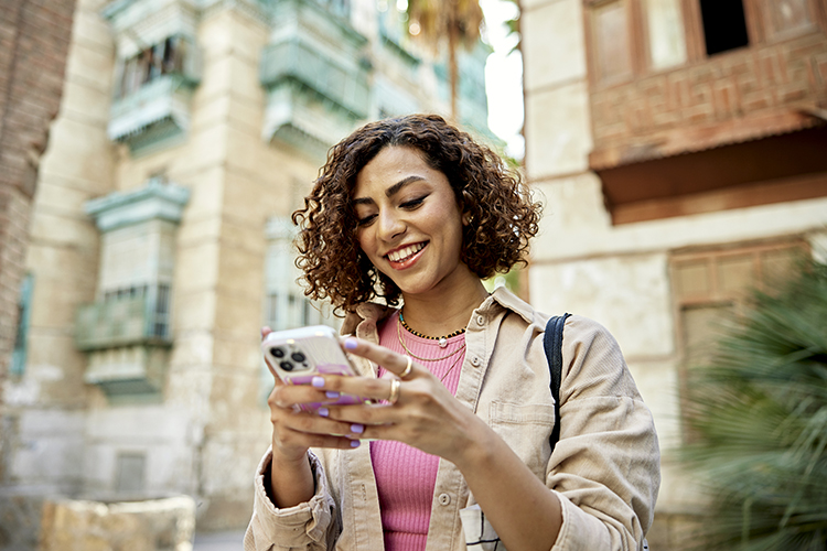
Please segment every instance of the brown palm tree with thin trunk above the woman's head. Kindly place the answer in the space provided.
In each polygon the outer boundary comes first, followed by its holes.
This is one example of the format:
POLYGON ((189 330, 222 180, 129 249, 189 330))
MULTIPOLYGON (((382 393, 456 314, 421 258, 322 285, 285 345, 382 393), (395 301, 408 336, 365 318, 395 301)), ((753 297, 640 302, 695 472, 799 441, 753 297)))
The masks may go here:
POLYGON ((408 0, 408 31, 438 48, 448 45, 448 75, 451 86, 451 118, 458 120, 460 69, 457 52, 471 48, 480 39, 483 21, 477 0, 408 0))

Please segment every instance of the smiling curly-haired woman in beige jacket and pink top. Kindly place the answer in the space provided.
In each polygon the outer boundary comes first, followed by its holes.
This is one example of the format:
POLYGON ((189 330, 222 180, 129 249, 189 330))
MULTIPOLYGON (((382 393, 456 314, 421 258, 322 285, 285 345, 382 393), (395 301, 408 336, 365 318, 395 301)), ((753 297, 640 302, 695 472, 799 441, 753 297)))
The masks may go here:
POLYGON ((361 377, 276 378, 245 548, 643 549, 657 437, 616 343, 567 320, 551 454, 547 316, 481 283, 537 233, 519 179, 440 117, 409 116, 335 145, 304 204, 308 294, 347 313, 361 377), (374 404, 332 406, 342 392, 374 404))

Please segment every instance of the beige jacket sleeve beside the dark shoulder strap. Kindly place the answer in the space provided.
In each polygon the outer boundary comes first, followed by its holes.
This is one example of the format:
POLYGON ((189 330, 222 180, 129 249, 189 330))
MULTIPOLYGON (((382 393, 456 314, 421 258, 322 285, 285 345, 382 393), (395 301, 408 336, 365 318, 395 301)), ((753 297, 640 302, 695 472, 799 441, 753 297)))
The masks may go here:
POLYGON ((643 549, 660 484, 654 420, 617 343, 584 317, 566 323, 560 402, 546 480, 562 505, 552 551, 643 549))

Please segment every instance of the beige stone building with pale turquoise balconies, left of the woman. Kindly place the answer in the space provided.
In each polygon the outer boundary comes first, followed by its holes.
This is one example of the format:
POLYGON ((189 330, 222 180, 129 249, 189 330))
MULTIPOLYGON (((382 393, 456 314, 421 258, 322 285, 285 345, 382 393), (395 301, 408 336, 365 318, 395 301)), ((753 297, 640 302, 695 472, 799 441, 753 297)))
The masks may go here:
MULTIPOLYGON (((55 495, 186 494, 200 530, 245 526, 270 434, 259 327, 331 323, 294 283, 287 216, 352 129, 449 105, 402 23, 373 0, 77 1, 19 252, 0 549, 33 547, 55 495)), ((483 134, 486 55, 461 63, 483 134)))

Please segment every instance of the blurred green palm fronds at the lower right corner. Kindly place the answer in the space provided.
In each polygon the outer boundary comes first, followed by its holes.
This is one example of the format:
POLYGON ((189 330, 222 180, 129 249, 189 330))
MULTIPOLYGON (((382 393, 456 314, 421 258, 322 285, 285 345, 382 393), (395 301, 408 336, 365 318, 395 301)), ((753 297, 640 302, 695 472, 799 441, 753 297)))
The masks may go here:
POLYGON ((710 489, 700 549, 827 549, 827 266, 755 293, 690 370, 681 456, 710 489))

